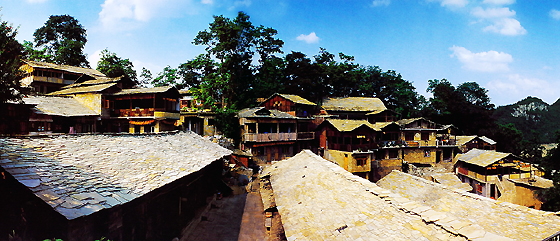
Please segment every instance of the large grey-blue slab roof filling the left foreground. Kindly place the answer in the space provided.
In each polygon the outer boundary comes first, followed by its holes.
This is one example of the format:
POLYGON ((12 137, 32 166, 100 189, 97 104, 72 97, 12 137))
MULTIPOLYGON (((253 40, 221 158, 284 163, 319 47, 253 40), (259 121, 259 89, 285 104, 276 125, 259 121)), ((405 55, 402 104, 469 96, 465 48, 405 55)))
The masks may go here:
POLYGON ((191 132, 0 139, 0 166, 68 220, 127 203, 230 154, 191 132))

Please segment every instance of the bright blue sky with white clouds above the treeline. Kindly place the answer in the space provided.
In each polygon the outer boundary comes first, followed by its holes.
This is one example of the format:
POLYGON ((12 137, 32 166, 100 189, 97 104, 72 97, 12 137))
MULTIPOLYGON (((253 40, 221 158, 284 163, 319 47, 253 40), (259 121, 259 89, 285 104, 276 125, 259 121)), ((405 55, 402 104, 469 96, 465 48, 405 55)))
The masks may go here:
POLYGON ((560 2, 539 0, 3 0, 2 20, 18 39, 50 15, 86 28, 92 66, 107 48, 153 74, 204 52, 191 42, 214 15, 244 11, 254 25, 278 30, 284 53, 319 48, 395 70, 426 93, 428 80, 476 81, 496 105, 560 97, 560 2))

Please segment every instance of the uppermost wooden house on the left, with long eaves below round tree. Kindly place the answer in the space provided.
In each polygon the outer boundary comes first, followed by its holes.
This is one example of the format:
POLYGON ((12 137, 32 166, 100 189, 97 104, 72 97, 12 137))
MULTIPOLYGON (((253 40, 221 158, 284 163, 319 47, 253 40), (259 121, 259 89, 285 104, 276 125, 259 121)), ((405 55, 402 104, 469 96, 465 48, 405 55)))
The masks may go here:
POLYGON ((90 69, 69 65, 58 65, 45 62, 24 60, 20 67, 25 73, 21 84, 31 87, 37 93, 50 93, 60 90, 62 87, 106 77, 103 73, 90 69))

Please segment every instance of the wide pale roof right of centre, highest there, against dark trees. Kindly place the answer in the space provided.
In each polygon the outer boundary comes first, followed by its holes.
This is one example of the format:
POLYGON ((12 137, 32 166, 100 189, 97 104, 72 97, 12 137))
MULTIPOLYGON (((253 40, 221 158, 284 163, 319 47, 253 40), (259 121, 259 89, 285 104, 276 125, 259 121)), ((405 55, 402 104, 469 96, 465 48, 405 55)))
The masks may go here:
POLYGON ((325 98, 322 107, 326 111, 376 112, 387 109, 379 98, 368 97, 325 98))

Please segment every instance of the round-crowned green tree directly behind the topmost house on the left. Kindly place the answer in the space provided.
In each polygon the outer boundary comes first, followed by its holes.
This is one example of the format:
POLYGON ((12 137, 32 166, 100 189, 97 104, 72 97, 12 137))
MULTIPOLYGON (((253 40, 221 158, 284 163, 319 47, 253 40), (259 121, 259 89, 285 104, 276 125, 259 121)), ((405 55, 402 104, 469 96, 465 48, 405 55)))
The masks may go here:
POLYGON ((89 67, 83 53, 87 42, 86 30, 74 17, 52 15, 45 25, 33 33, 35 47, 44 59, 36 59, 36 53, 28 50, 31 60, 49 61, 55 64, 89 67), (52 56, 52 57, 51 57, 52 56))

